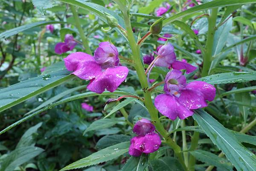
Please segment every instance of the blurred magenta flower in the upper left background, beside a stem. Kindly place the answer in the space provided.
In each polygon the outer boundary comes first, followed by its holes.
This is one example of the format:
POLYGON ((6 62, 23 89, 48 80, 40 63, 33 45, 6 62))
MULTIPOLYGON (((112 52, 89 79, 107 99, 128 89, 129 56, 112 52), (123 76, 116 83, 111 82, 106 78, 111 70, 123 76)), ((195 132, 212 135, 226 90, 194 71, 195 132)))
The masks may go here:
POLYGON ((72 35, 65 35, 65 41, 57 43, 55 45, 55 53, 61 55, 62 53, 65 53, 67 51, 73 50, 76 46, 76 41, 74 41, 74 38, 72 35))

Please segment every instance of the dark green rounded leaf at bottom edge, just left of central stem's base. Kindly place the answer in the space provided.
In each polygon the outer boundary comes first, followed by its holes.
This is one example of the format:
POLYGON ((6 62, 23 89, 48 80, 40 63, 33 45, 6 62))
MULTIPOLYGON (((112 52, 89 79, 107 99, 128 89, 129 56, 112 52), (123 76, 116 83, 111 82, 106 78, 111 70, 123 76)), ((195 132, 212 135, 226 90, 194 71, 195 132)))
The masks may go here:
POLYGON ((154 171, 184 171, 180 162, 174 157, 162 157, 151 161, 154 171))

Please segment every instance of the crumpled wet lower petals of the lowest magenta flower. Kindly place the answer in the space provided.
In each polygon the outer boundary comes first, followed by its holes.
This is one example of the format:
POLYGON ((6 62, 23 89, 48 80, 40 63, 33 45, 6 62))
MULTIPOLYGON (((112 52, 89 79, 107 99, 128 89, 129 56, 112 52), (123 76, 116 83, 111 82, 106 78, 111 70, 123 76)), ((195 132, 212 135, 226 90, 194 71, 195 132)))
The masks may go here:
POLYGON ((129 154, 139 157, 142 153, 153 153, 159 149, 160 145, 161 139, 156 133, 147 133, 145 136, 134 136, 131 139, 129 154))

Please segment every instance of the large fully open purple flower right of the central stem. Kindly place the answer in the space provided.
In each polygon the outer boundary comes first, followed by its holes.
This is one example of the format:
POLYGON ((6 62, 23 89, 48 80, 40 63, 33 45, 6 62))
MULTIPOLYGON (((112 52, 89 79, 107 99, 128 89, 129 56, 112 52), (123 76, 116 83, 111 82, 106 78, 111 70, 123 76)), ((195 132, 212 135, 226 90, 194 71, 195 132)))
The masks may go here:
POLYGON ((193 115, 193 109, 207 107, 207 102, 215 98, 215 87, 204 81, 186 83, 179 70, 167 73, 164 85, 165 94, 155 98, 157 110, 169 119, 185 119, 193 115))

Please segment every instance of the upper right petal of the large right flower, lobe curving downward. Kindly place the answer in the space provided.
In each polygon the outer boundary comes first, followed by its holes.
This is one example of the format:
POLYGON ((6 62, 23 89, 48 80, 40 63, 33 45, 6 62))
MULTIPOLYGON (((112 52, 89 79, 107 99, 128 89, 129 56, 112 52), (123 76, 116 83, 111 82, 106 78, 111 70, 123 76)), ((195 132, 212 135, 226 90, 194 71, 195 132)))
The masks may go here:
POLYGON ((216 95, 215 87, 204 81, 192 81, 186 85, 186 88, 200 91, 204 94, 204 99, 208 101, 213 101, 216 95))

